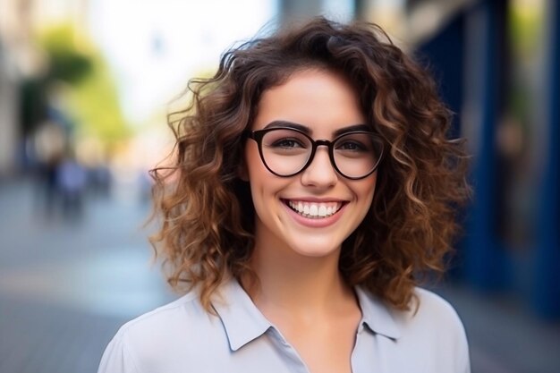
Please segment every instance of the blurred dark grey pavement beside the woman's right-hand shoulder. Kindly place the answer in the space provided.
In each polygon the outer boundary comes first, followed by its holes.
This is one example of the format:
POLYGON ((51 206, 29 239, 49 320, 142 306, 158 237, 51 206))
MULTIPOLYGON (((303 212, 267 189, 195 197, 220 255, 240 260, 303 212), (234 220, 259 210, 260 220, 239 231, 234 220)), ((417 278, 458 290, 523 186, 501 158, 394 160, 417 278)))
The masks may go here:
POLYGON ((519 301, 461 285, 437 292, 462 318, 473 373, 560 372, 560 320, 539 320, 519 301))

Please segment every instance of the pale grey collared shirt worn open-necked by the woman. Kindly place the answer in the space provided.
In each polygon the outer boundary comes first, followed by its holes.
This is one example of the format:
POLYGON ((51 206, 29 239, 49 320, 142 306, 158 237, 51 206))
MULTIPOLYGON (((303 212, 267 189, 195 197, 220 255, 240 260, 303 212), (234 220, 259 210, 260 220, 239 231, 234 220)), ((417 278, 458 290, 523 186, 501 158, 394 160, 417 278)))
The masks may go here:
MULTIPOLYGON (((467 340, 454 309, 416 289, 419 309, 395 311, 360 287, 362 319, 352 372, 468 373, 467 340)), ((106 348, 98 373, 309 373, 280 331, 233 280, 208 314, 196 292, 136 318, 106 348)), ((336 343, 336 341, 333 341, 336 343)))

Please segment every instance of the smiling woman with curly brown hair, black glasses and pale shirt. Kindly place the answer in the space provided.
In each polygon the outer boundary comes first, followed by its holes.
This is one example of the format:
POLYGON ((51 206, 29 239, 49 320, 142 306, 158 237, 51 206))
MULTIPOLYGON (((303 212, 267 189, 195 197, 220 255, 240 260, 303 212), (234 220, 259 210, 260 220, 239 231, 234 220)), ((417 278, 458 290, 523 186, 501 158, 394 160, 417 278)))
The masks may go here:
POLYGON ((417 287, 469 193, 427 73, 378 27, 318 18, 190 89, 153 238, 187 293, 99 372, 470 371, 454 309, 417 287))

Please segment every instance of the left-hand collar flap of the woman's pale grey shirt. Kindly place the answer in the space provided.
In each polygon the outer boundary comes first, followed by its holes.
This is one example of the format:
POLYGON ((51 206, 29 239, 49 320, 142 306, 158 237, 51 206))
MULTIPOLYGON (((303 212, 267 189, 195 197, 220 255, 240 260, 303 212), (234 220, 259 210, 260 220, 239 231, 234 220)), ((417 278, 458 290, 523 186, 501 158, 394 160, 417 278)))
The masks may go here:
POLYGON ((233 351, 263 335, 272 326, 237 280, 222 284, 220 295, 213 299, 212 306, 224 324, 233 351))

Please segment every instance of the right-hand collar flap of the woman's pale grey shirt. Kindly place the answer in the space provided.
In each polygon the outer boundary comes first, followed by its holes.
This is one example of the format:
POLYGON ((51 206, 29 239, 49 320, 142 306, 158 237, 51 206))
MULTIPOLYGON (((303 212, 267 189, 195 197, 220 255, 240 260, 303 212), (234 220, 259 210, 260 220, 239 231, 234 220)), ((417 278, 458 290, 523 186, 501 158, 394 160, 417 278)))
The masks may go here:
POLYGON ((360 286, 356 286, 355 290, 361 307, 361 323, 378 335, 398 339, 402 335, 402 328, 386 304, 360 286))

